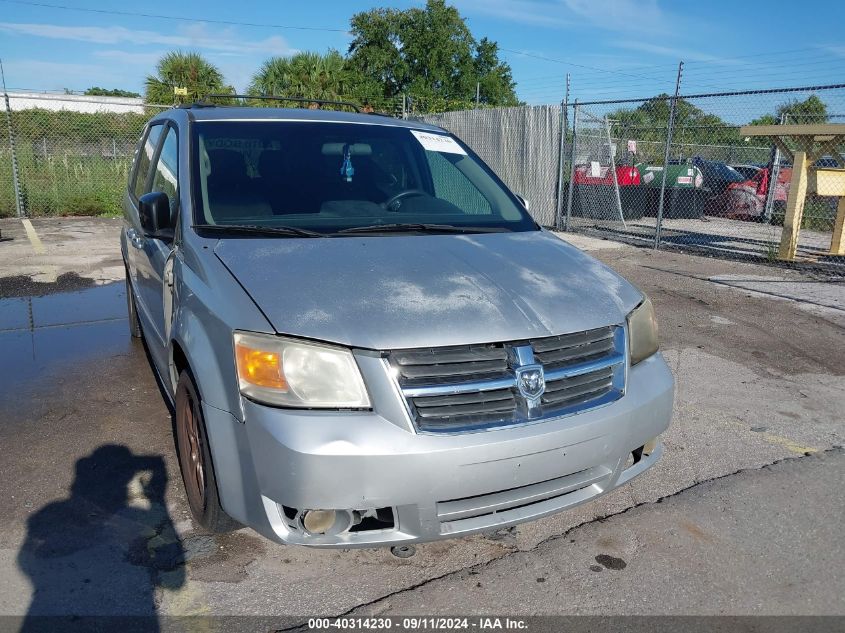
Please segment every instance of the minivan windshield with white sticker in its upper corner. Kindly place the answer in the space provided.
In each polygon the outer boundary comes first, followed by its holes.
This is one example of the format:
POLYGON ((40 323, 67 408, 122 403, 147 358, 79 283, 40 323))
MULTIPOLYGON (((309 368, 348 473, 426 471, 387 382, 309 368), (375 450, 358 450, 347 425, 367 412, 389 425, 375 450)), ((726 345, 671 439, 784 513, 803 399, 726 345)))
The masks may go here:
POLYGON ((283 121, 193 129, 198 225, 320 234, 382 224, 537 229, 498 178, 446 134, 283 121))

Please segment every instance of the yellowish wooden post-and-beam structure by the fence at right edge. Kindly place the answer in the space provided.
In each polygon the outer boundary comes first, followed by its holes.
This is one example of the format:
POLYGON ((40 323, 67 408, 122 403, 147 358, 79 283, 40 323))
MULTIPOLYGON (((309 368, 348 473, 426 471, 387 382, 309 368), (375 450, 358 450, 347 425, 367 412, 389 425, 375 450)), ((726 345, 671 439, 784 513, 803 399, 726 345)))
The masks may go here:
MULTIPOLYGON (((845 160, 839 154, 839 148, 845 146, 845 125, 746 125, 740 128, 740 134, 771 139, 781 154, 792 161, 792 179, 786 200, 786 217, 783 220, 778 259, 795 259, 804 200, 808 193, 839 196, 830 254, 845 255, 845 160), (819 167, 810 171, 809 168, 819 158, 828 155, 833 156, 838 168, 819 167)), ((769 186, 774 187, 775 184, 769 186)))

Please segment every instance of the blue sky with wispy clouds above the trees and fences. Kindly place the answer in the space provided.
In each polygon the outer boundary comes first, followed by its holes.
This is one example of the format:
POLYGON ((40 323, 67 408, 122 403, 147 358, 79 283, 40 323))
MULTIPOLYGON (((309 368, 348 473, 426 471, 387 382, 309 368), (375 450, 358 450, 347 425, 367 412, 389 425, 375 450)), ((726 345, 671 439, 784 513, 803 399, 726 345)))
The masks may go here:
MULTIPOLYGON (((349 18, 421 1, 0 0, 0 59, 9 89, 143 92, 174 49, 195 50, 244 90, 268 57, 346 52, 349 18), (65 7, 65 8, 61 8, 65 7), (86 11, 70 10, 87 9, 86 11), (108 12, 142 12, 148 17, 108 12), (180 19, 162 19, 153 15, 180 19), (226 24, 226 22, 251 23, 226 24)), ((476 38, 498 42, 517 94, 571 99, 845 83, 845 2, 785 0, 453 0, 476 38)))

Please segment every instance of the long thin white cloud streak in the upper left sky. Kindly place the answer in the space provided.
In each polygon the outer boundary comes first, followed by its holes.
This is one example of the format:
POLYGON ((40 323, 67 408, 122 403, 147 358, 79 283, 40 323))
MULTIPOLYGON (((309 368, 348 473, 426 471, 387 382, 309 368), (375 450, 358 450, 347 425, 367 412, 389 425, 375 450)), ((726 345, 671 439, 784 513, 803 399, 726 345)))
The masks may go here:
POLYGON ((232 29, 210 31, 202 22, 182 27, 172 34, 127 29, 122 26, 62 26, 18 22, 0 22, 0 32, 91 44, 163 45, 172 48, 198 48, 238 54, 290 55, 294 52, 285 39, 278 35, 252 40, 238 37, 232 29))

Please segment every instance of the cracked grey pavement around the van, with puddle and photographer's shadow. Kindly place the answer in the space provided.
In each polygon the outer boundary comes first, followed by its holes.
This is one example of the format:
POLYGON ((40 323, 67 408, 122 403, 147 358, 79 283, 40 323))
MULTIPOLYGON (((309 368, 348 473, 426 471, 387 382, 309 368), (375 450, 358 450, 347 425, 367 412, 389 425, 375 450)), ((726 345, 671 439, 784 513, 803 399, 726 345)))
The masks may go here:
POLYGON ((841 280, 565 236, 655 304, 677 380, 663 459, 574 510, 399 559, 203 534, 127 334, 119 222, 33 225, 44 253, 0 221, 0 614, 845 611, 841 280))

